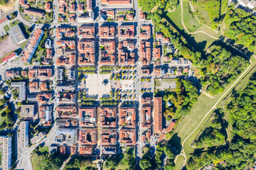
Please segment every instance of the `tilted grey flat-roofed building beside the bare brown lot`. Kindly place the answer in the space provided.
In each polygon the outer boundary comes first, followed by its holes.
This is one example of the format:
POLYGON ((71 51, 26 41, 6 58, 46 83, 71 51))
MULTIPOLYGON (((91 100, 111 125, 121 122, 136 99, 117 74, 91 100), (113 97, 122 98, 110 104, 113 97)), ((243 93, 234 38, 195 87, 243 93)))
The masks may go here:
POLYGON ((26 40, 20 26, 17 24, 16 26, 12 27, 9 31, 8 31, 11 40, 14 42, 14 45, 24 42, 26 40))

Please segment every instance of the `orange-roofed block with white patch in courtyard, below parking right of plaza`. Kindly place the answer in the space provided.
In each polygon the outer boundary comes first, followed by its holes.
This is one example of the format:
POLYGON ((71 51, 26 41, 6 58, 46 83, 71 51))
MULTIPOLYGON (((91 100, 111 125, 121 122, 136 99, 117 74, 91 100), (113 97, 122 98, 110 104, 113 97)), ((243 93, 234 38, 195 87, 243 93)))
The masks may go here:
POLYGON ((119 125, 125 128, 135 128, 136 111, 135 108, 119 108, 119 125))

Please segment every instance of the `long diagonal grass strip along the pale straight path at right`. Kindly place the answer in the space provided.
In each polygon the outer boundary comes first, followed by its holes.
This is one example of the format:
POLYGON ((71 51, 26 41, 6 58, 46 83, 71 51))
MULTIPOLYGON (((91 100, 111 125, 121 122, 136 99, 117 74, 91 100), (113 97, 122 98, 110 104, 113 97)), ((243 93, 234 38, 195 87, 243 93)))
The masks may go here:
MULTIPOLYGON (((255 66, 255 64, 256 64, 255 59, 253 59, 252 66, 255 66)), ((250 71, 247 71, 247 73, 248 72, 250 72, 250 71)), ((248 79, 251 75, 252 75, 252 72, 250 72, 250 74, 245 74, 245 78, 241 79, 241 82, 246 81, 246 79, 248 79)), ((223 92, 223 94, 227 91, 227 89, 230 88, 230 86, 232 86, 232 84, 228 85, 225 88, 225 91, 223 92)), ((240 88, 242 88, 242 86, 245 86, 245 84, 238 82, 238 84, 236 84, 235 88, 240 89, 240 88)), ((232 90, 230 90, 229 92, 231 92, 231 91, 232 90)), ((201 96, 199 96, 198 102, 195 103, 193 105, 193 108, 191 109, 191 113, 189 115, 187 115, 185 118, 183 118, 181 120, 181 123, 179 123, 177 125, 176 129, 174 130, 174 133, 177 133, 178 137, 180 138, 181 144, 182 144, 183 140, 185 140, 186 137, 188 137, 188 135, 190 135, 191 132, 193 132, 193 130, 201 122, 201 120, 206 115, 206 113, 208 113, 208 111, 210 111, 210 108, 212 108, 215 105, 215 103, 218 101, 218 99, 223 94, 218 94, 215 96, 215 98, 209 98, 208 96, 206 96, 204 94, 201 94, 201 96)), ((221 104, 221 102, 218 103, 217 108, 220 106, 220 104, 221 104)), ((195 132, 193 132, 193 134, 184 143, 183 149, 186 152, 187 159, 189 158, 189 154, 193 153, 193 151, 194 151, 193 147, 191 147, 191 143, 195 139, 196 135, 198 135, 198 132, 200 132, 200 130, 203 128, 203 125, 206 123, 206 121, 208 120, 210 115, 211 114, 209 114, 203 120, 200 127, 195 132)), ((173 141, 173 142, 175 142, 175 141, 173 141)))

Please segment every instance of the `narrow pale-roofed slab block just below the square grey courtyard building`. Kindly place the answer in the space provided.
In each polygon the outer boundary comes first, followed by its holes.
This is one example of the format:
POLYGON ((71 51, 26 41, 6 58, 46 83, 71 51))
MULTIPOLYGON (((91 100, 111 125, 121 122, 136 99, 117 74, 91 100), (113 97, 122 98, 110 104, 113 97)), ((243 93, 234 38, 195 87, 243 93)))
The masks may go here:
POLYGON ((19 130, 20 147, 28 147, 28 122, 21 122, 19 130))

